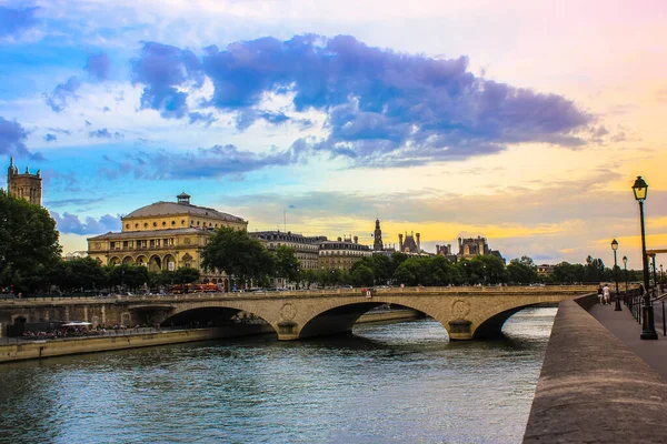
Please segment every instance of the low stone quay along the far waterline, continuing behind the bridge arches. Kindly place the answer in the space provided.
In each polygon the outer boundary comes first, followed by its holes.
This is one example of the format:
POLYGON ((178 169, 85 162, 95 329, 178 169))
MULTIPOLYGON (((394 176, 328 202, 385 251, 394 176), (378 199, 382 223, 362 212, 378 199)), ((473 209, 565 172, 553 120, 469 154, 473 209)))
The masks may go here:
MULTIPOLYGON (((376 312, 364 314, 357 323, 401 322, 420 315, 414 310, 376 312)), ((0 345, 0 363, 272 333, 276 332, 268 324, 237 324, 217 329, 165 330, 148 333, 133 333, 132 330, 128 330, 125 334, 108 336, 19 340, 17 343, 0 345)))

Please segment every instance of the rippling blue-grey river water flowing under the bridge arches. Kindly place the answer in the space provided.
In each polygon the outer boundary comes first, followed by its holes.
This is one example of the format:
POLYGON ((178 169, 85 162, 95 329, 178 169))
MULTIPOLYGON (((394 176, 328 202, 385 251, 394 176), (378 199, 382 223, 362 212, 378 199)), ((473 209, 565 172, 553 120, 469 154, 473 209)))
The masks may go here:
POLYGON ((432 320, 0 365, 7 443, 518 443, 556 309, 506 339, 432 320))

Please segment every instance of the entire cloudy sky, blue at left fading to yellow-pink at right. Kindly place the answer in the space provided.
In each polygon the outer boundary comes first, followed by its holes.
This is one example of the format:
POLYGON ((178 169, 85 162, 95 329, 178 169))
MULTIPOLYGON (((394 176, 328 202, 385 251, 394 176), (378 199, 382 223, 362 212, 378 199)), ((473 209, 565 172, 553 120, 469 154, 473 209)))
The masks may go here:
POLYGON ((379 218, 385 244, 608 266, 616 239, 640 268, 637 175, 667 249, 665 22, 661 0, 0 0, 0 159, 41 170, 64 252, 186 191, 249 231, 370 245, 379 218))

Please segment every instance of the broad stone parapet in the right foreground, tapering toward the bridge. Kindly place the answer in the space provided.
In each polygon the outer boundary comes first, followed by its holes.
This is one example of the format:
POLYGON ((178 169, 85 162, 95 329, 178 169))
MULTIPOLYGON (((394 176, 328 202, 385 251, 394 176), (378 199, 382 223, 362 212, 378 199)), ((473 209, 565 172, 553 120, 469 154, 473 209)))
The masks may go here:
POLYGON ((583 306, 554 321, 524 443, 664 443, 667 382, 583 306))

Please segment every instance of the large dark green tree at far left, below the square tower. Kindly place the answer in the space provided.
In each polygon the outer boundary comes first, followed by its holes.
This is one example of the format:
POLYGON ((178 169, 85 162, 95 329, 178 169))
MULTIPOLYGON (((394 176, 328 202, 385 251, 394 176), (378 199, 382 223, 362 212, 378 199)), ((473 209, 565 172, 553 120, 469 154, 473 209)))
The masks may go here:
POLYGON ((50 268, 60 252, 49 212, 0 190, 0 283, 13 284, 34 269, 50 268))

